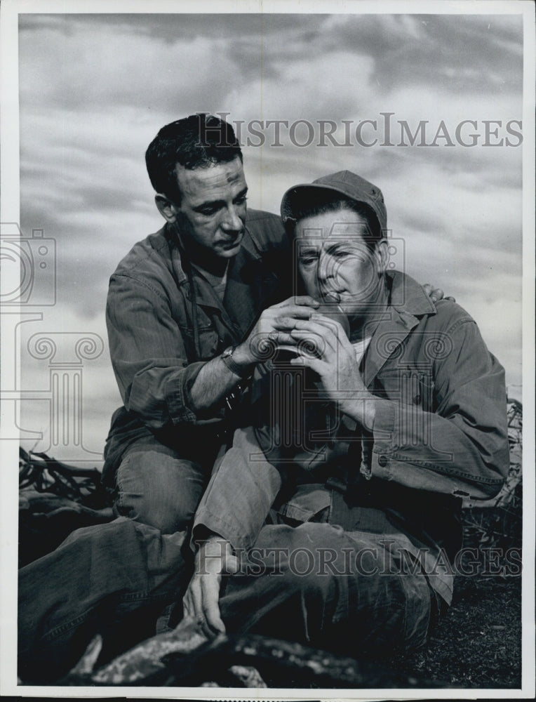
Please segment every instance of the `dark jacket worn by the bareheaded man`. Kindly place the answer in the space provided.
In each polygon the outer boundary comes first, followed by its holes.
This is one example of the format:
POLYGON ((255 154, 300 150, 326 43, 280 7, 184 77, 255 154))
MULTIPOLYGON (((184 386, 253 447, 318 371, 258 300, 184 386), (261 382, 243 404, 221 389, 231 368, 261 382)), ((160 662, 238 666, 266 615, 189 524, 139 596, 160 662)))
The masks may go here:
POLYGON ((248 211, 239 253, 229 263, 221 302, 182 260, 173 226, 133 246, 110 279, 107 329, 123 407, 112 417, 105 482, 113 482, 123 451, 144 435, 198 451, 215 437, 223 411, 197 415, 189 388, 208 360, 239 343, 258 314, 290 290, 290 248, 279 217, 248 211), (193 285, 193 290, 192 290, 193 285), (210 426, 208 426, 210 425, 210 426))

